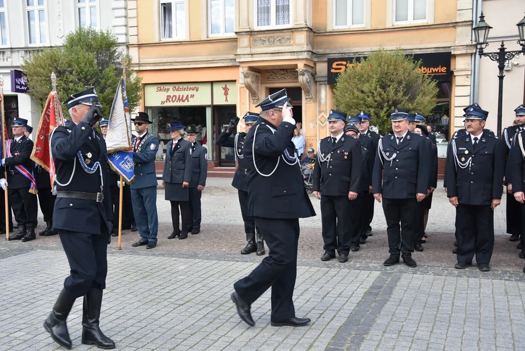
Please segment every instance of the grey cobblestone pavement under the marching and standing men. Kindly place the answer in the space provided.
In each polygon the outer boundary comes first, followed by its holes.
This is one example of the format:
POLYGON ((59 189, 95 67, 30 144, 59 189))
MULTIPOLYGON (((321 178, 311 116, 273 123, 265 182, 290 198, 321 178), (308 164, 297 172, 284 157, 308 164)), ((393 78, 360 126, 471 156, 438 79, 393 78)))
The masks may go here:
MULTIPOLYGON (((270 326, 270 293, 252 306, 255 327, 240 322, 233 283, 260 261, 241 256, 243 227, 228 179, 209 179, 203 226, 187 240, 167 240, 169 205, 159 188, 159 246, 108 250, 101 326, 122 350, 520 350, 525 349, 525 274, 505 234, 505 203, 495 212, 496 248, 488 273, 454 270, 454 208, 436 190, 418 267, 386 268, 380 206, 374 236, 348 263, 321 262, 320 218, 301 221, 295 306, 312 318, 301 328, 270 326)), ((441 193, 440 193, 441 192, 441 193)), ((312 199, 319 211, 319 201, 312 199)), ((377 204, 379 205, 379 204, 377 204)), ((61 349, 44 331, 69 271, 57 237, 0 242, 0 350, 61 349)), ((68 319, 80 344, 81 300, 68 319)))

